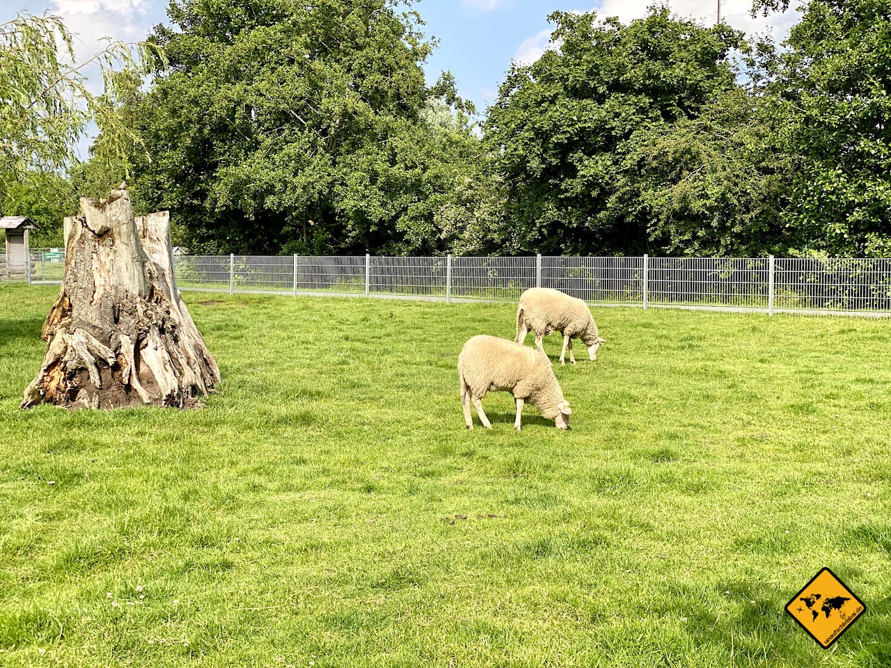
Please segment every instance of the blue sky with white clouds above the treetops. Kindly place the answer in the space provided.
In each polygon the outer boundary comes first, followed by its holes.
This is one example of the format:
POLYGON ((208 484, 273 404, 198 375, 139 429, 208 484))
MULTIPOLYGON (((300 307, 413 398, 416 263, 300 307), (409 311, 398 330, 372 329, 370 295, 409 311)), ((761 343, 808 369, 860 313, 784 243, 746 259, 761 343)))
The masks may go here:
MULTIPOLYGON (((669 0, 673 12, 711 24, 718 0, 669 0)), ((642 17, 654 0, 416 0, 413 8, 426 22, 425 32, 437 37, 439 46, 425 67, 433 84, 448 69, 458 82, 458 92, 470 99, 480 113, 495 102, 498 86, 511 61, 535 61, 547 45, 552 26, 547 16, 554 11, 594 10, 602 16, 618 16, 625 22, 642 17)), ((753 20, 751 0, 722 0, 722 14, 735 28, 749 34, 771 29, 779 40, 786 37, 797 12, 753 20)), ((3 0, 0 22, 18 11, 58 14, 78 35, 78 59, 86 60, 99 48, 100 37, 135 42, 151 27, 167 22, 167 0, 3 0)), ((97 87, 99 83, 97 82, 97 87)))

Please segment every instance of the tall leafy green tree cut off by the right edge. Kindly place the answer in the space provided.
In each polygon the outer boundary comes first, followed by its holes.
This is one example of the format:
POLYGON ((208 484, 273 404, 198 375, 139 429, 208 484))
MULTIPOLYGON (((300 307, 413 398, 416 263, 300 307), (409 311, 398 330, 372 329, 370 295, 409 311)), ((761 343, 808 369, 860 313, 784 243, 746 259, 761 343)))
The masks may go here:
POLYGON ((794 176, 786 216, 810 248, 891 257, 889 45, 888 0, 811 0, 791 29, 771 90, 794 176))

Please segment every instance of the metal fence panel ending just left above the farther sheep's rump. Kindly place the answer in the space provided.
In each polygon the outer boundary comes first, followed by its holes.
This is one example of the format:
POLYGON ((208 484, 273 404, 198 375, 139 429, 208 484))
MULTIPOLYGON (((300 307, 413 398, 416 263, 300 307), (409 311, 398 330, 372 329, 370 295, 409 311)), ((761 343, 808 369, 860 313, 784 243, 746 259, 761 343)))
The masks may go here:
POLYGON ((452 297, 515 301, 535 287, 535 257, 453 257, 452 297))

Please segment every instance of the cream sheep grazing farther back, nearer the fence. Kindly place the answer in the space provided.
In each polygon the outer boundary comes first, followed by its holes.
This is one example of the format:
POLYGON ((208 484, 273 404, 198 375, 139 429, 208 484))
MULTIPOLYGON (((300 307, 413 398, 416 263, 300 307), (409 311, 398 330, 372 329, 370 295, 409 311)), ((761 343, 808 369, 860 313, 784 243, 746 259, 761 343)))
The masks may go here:
POLYGON ((519 297, 517 308, 517 343, 526 341, 529 330, 535 332, 535 347, 544 353, 542 338, 552 331, 563 335, 563 349, 560 350, 560 364, 566 363, 566 350, 569 348, 569 362, 576 363, 572 354, 572 339, 578 338, 588 347, 588 358, 597 360, 597 349, 606 343, 597 332, 591 310, 581 299, 551 288, 529 288, 519 297))

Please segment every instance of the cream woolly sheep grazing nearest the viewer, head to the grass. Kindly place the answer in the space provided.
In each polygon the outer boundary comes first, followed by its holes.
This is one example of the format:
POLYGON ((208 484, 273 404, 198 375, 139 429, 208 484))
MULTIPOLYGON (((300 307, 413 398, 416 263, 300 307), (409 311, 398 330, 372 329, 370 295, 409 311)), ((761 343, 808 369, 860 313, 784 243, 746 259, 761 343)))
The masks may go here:
POLYGON ((537 350, 520 346, 506 338, 479 335, 468 339, 458 355, 458 378, 461 381, 461 403, 464 422, 473 428, 470 402, 477 407, 479 420, 486 429, 492 423, 483 412, 482 399, 492 390, 509 390, 517 403, 517 419, 523 403, 537 406, 545 418, 554 420, 559 429, 569 428, 569 403, 563 398, 560 383, 554 376, 551 361, 537 350))

